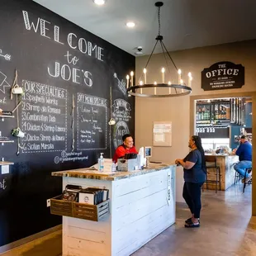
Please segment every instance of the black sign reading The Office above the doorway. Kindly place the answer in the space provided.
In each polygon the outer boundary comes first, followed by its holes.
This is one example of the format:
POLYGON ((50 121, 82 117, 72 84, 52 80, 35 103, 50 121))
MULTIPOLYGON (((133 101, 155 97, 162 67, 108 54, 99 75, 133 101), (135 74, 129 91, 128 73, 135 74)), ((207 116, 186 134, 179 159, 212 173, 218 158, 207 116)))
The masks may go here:
POLYGON ((212 64, 201 71, 204 91, 241 88, 244 85, 244 66, 229 61, 212 64))

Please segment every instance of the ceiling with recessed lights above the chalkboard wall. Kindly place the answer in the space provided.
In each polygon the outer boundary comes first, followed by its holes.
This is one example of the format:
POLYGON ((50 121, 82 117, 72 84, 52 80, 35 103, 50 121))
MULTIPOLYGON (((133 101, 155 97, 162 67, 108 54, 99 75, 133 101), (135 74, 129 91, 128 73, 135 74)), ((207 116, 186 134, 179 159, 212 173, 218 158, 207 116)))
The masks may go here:
MULTIPOLYGON (((122 50, 150 54, 158 35, 156 0, 34 0, 122 50), (133 29, 126 21, 135 21, 133 29)), ((161 34, 168 50, 256 39, 255 0, 164 0, 161 34)), ((160 52, 156 49, 155 52, 160 52)))

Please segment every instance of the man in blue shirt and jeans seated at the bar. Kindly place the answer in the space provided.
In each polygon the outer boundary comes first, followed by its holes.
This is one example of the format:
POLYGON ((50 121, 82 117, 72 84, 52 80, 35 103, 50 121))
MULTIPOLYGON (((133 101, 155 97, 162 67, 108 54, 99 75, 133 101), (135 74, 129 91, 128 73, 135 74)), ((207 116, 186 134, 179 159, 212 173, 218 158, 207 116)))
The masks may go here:
MULTIPOLYGON (((239 156, 239 163, 235 164, 235 171, 238 172, 244 178, 245 169, 252 168, 252 145, 249 143, 247 136, 242 135, 240 145, 238 149, 234 149, 233 152, 239 156)), ((251 179, 251 173, 246 173, 245 181, 247 183, 251 179)))

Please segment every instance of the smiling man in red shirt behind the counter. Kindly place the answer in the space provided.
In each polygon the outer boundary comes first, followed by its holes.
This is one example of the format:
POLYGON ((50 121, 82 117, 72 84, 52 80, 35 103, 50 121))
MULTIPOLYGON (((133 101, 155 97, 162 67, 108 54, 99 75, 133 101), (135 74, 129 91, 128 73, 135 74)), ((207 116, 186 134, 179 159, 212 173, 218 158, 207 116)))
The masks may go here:
POLYGON ((135 153, 138 154, 135 146, 133 145, 133 139, 131 135, 123 135, 122 136, 123 144, 118 146, 116 152, 113 156, 113 162, 117 162, 117 159, 123 158, 125 154, 135 153))

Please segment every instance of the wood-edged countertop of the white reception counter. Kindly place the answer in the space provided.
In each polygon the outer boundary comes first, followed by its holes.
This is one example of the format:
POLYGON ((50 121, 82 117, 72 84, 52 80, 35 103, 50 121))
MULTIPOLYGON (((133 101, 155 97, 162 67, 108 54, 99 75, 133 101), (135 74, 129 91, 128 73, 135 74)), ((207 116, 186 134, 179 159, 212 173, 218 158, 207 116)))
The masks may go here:
POLYGON ((135 170, 131 172, 102 172, 100 173, 97 169, 92 168, 78 168, 74 170, 60 171, 51 173, 52 176, 59 177, 72 177, 72 178, 90 178, 90 179, 101 179, 107 181, 116 181, 123 178, 131 178, 147 173, 154 173, 160 170, 169 168, 170 166, 176 166, 176 164, 149 164, 149 168, 143 170, 135 170))

